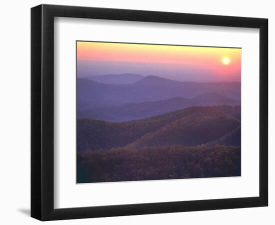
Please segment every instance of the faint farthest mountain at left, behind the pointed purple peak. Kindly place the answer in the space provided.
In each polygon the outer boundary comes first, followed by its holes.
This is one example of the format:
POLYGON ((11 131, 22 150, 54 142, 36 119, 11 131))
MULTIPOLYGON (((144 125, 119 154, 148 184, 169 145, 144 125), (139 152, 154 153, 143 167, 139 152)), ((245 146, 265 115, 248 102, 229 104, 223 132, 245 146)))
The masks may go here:
POLYGON ((106 74, 99 76, 87 76, 85 79, 90 79, 99 83, 106 84, 132 84, 144 76, 135 73, 122 73, 122 74, 106 74))

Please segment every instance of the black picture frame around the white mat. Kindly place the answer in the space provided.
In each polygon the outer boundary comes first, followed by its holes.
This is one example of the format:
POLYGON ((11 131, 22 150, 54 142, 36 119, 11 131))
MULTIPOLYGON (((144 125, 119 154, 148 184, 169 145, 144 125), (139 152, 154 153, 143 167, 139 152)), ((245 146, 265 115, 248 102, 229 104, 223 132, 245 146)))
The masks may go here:
POLYGON ((266 18, 47 4, 31 8, 31 217, 39 220, 56 220, 267 206, 267 44, 268 20, 266 18), (259 196, 54 209, 54 16, 259 28, 259 196))

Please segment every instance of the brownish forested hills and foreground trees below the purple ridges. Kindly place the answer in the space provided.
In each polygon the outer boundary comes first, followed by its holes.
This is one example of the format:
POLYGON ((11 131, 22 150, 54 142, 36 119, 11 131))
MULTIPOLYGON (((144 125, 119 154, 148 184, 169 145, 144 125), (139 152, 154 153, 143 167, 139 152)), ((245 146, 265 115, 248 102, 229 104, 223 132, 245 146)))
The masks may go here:
POLYGON ((77 182, 240 175, 239 111, 197 106, 112 123, 77 120, 77 182))

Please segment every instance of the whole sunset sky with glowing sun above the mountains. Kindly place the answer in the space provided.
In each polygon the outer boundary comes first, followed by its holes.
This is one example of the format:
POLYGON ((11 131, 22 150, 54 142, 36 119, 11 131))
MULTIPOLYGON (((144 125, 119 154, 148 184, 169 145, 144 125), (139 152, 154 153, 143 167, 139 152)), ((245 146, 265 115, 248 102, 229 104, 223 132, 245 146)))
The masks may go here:
POLYGON ((137 73, 180 81, 240 81, 241 48, 76 42, 77 77, 137 73))

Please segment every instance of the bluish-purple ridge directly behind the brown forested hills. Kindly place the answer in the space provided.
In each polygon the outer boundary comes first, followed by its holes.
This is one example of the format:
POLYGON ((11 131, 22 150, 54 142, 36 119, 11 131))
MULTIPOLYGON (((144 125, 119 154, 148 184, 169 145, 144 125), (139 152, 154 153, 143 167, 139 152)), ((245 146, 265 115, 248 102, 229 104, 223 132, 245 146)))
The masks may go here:
POLYGON ((173 97, 159 101, 144 101, 113 105, 98 105, 77 111, 77 118, 93 118, 112 122, 127 121, 163 114, 200 105, 236 105, 239 102, 221 94, 207 92, 193 98, 173 97))

